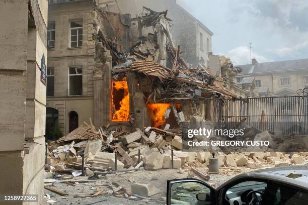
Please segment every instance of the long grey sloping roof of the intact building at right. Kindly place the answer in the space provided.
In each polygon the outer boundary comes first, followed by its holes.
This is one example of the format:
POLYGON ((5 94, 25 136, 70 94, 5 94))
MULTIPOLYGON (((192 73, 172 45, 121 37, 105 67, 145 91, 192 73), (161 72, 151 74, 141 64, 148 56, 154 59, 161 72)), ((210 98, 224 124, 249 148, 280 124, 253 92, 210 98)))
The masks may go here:
POLYGON ((308 69, 308 59, 237 65, 237 67, 242 68, 242 72, 239 75, 294 71, 308 69))

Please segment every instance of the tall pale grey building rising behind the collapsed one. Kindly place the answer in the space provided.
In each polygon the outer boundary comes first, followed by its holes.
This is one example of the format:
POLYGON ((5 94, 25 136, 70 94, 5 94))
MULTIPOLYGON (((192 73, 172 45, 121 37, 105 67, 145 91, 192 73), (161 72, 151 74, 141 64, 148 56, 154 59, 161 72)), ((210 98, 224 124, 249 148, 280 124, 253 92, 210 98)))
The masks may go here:
POLYGON ((98 1, 101 6, 109 7, 107 11, 121 12, 136 17, 147 7, 153 11, 168 10, 168 18, 172 20, 172 40, 175 46, 181 45, 182 56, 188 64, 197 66, 199 63, 208 65, 208 55, 212 52, 213 33, 199 20, 182 8, 176 0, 118 0, 98 1))

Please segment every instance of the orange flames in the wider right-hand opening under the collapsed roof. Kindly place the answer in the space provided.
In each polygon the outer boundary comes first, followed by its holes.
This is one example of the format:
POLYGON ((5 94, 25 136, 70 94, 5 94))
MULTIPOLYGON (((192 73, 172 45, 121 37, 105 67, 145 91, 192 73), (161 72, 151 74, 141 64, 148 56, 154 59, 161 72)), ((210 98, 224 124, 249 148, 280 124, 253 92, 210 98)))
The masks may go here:
POLYGON ((156 128, 166 123, 167 119, 164 118, 164 114, 170 107, 171 105, 169 103, 155 103, 147 105, 150 118, 155 123, 156 128))

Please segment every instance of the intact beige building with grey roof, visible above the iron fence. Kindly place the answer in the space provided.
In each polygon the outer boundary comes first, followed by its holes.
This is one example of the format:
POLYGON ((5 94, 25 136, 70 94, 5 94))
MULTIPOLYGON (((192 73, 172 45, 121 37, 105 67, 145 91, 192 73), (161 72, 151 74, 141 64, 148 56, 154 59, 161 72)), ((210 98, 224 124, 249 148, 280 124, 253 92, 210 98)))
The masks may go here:
POLYGON ((242 69, 236 78, 241 85, 251 77, 262 96, 289 96, 308 85, 308 59, 238 65, 242 69))

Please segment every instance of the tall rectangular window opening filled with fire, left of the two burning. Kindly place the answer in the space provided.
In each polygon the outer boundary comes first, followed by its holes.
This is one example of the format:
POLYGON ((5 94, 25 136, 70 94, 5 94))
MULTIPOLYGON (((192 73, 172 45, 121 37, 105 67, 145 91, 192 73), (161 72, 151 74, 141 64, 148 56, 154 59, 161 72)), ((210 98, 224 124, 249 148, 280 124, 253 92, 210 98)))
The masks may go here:
POLYGON ((112 82, 111 102, 112 121, 129 121, 129 91, 125 77, 112 82))

